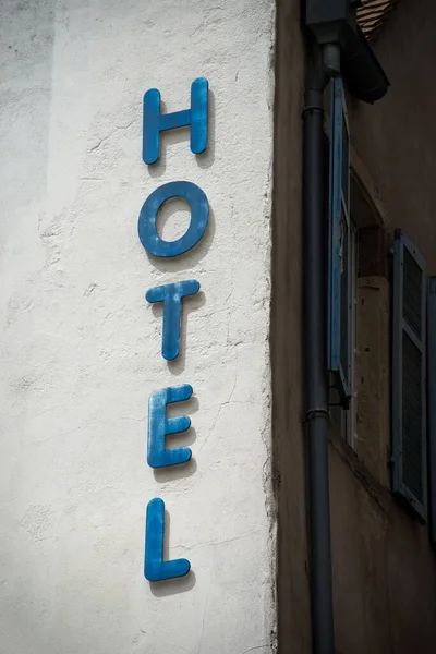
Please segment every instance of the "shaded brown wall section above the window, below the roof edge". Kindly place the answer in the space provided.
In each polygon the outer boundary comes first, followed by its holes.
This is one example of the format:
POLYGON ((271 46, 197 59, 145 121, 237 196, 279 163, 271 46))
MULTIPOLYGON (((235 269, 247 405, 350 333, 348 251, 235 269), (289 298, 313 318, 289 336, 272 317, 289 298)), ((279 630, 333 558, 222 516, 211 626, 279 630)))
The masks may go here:
POLYGON ((375 52, 391 86, 368 106, 352 102, 352 141, 400 227, 436 274, 436 2, 399 0, 375 52))

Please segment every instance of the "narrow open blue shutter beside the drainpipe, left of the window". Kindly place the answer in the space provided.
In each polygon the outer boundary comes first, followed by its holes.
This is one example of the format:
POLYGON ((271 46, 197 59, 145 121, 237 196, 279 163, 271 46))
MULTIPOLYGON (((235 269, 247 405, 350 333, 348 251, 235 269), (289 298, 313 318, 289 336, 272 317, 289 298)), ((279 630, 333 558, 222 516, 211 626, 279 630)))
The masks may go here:
POLYGON ((341 80, 330 86, 330 189, 328 245, 328 370, 341 404, 351 397, 350 132, 341 80))

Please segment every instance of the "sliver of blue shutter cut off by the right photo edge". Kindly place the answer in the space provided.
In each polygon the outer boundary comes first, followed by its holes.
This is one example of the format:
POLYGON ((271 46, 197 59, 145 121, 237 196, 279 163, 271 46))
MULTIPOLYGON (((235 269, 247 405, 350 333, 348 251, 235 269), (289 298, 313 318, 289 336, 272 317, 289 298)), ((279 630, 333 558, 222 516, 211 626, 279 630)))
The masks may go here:
POLYGON ((429 528, 436 545, 436 277, 428 278, 427 325, 429 528))

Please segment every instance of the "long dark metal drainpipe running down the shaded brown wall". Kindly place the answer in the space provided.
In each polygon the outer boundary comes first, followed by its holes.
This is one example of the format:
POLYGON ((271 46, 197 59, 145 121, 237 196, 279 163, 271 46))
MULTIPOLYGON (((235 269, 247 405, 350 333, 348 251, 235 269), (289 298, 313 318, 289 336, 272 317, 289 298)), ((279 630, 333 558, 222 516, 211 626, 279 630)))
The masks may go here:
POLYGON ((307 439, 312 649, 334 654, 328 475, 328 376, 324 178, 324 90, 339 74, 339 46, 323 47, 308 75, 303 112, 304 370, 307 439))

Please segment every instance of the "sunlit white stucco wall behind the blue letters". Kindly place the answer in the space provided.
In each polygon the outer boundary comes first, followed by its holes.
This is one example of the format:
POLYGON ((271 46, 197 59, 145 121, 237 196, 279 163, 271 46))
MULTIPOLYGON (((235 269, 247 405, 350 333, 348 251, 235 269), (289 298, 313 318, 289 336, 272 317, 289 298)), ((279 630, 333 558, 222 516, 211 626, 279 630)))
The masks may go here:
MULTIPOLYGON (((275 651, 268 353, 272 0, 4 0, 0 8, 0 651, 275 651), (189 130, 141 158, 142 97, 210 85, 209 149, 189 130), (207 235, 154 259, 137 216, 158 185, 206 193, 207 235), (182 353, 160 354, 156 284, 195 278, 182 353), (146 463, 147 401, 191 384, 184 468, 146 463), (145 508, 170 558, 143 577, 145 508), (167 523, 168 526, 168 523, 167 523)), ((181 235, 174 204, 162 234, 181 235)), ((174 413, 175 414, 175 413, 174 413)))

